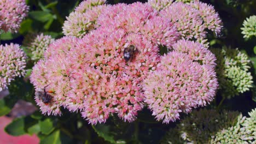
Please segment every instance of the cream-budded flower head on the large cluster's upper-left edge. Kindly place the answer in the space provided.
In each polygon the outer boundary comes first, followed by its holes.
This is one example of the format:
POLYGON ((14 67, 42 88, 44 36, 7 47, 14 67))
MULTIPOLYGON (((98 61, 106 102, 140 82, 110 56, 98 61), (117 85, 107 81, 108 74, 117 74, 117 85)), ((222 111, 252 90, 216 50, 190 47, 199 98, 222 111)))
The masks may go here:
POLYGON ((93 9, 86 10, 85 13, 73 11, 63 24, 63 33, 65 35, 72 35, 78 38, 84 37, 86 33, 98 27, 97 17, 101 10, 105 8, 104 5, 99 5, 93 9))

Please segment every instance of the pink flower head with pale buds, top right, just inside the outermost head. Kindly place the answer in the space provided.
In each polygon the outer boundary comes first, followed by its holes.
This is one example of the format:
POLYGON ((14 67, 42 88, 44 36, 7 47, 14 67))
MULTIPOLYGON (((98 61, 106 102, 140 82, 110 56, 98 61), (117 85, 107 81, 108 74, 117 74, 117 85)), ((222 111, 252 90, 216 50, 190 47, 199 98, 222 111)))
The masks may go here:
POLYGON ((206 37, 200 12, 188 4, 173 3, 170 7, 161 10, 160 15, 174 23, 182 38, 199 39, 206 37))

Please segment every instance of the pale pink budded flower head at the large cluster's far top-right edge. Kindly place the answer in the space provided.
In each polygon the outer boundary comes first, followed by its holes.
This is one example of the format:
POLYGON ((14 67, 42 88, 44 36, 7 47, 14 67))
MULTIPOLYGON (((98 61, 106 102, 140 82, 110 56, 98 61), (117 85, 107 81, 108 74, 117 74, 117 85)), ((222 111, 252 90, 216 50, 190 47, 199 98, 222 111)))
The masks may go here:
POLYGON ((215 32, 216 35, 222 31, 222 20, 220 20, 219 14, 215 11, 214 7, 207 3, 199 1, 191 2, 190 5, 199 11, 203 20, 203 25, 215 32))

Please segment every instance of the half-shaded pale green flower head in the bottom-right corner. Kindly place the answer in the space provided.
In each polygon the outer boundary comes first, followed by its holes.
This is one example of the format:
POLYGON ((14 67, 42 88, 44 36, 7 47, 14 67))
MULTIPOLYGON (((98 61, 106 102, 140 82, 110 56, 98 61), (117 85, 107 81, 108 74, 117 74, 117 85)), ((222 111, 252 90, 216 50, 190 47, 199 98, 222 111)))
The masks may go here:
POLYGON ((193 111, 161 143, 255 143, 256 109, 243 117, 239 112, 193 111))

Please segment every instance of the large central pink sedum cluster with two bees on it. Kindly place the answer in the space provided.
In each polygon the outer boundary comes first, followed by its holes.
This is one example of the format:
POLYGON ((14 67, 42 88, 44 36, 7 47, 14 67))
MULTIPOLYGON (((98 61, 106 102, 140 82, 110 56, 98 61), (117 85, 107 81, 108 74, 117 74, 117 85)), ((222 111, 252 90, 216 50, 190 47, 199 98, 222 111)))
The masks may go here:
POLYGON ((64 24, 63 31, 72 36, 51 44, 33 68, 35 99, 44 114, 61 115, 60 107, 65 107, 92 124, 114 114, 132 122, 148 105, 158 120, 168 123, 179 112, 212 101, 218 86, 216 58, 203 45, 178 40, 181 31, 148 3, 93 2, 75 9, 80 18, 69 15, 65 23, 74 23, 64 24), (85 25, 78 21, 89 20, 94 15, 89 11, 97 9, 94 26, 81 27, 85 25), (159 46, 171 52, 160 56, 159 46), (43 101, 45 92, 48 101, 43 101))

